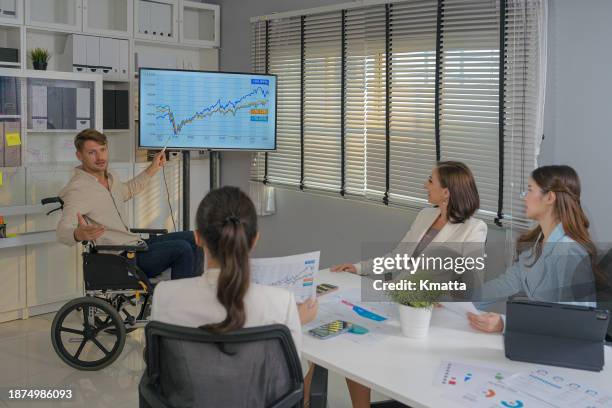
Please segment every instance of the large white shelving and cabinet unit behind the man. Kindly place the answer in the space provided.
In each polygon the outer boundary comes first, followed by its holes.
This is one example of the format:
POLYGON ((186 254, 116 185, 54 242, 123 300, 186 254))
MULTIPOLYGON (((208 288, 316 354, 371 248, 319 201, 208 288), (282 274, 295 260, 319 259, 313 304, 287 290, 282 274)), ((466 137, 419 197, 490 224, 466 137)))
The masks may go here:
MULTIPOLYGON (((2 6, 10 0, 0 0, 2 6)), ((15 16, 6 18, 0 11, 0 47, 18 49, 18 63, 3 65, 0 62, 0 76, 22 78, 55 78, 74 80, 90 78, 96 89, 118 87, 129 90, 129 129, 109 129, 105 133, 109 140, 110 167, 122 180, 133 177, 147 166, 146 152, 137 151, 137 62, 146 62, 149 67, 218 70, 219 35, 211 43, 205 34, 209 27, 200 23, 200 18, 190 16, 195 10, 208 9, 203 2, 186 0, 154 0, 170 4, 171 36, 141 35, 139 27, 139 3, 142 0, 14 0, 15 16), (198 7, 192 7, 196 3, 198 7), (204 4, 203 7, 199 7, 204 4), (93 8, 92 8, 93 6, 93 8), (185 9, 185 6, 186 9, 185 9), (123 9, 125 8, 125 13, 123 9), (187 11, 187 18, 185 18, 187 11), (126 17, 125 19, 123 17, 126 17), (182 22, 179 24, 179 20, 182 22), (101 17, 101 18, 98 18, 101 17), (191 21, 197 27, 187 27, 191 21), (185 30, 186 28, 186 30, 185 30), (96 73, 73 73, 74 61, 66 53, 74 52, 73 34, 107 39, 126 40, 127 78, 125 76, 103 77, 96 73), (197 35, 196 35, 197 34, 197 35), (47 71, 33 71, 27 57, 29 50, 42 47, 51 53, 47 71), (136 55, 140 58, 137 58, 136 55), (64 59, 66 58, 66 59, 64 59), (70 64, 67 64, 69 61, 70 64), (95 79, 94 79, 95 78, 95 79)), ((215 8, 215 30, 220 21, 220 10, 215 8)), ((205 20, 208 11, 204 13, 205 20)), ((210 15, 212 16, 212 14, 210 15)), ((157 17, 156 17, 157 18, 157 17)), ((150 16, 149 16, 150 19, 150 16)), ((157 23, 156 23, 157 24, 157 23)), ((207 31, 209 30, 209 31, 207 31)), ((102 62, 102 61, 101 61, 102 62)), ((102 65, 102 64, 100 64, 102 65)), ((140 64, 144 66, 143 64, 140 64)), ((40 198, 57 195, 72 175, 78 161, 74 155, 73 139, 76 129, 28 129, 27 81, 20 85, 21 111, 19 115, 6 114, 0 121, 17 121, 21 132, 21 167, 0 167, 3 185, 0 186, 0 215, 3 209, 15 211, 22 207, 27 214, 6 215, 9 234, 27 234, 28 240, 45 237, 52 242, 36 245, 16 245, 16 240, 5 241, 10 248, 0 249, 0 322, 27 318, 31 314, 48 313, 57 310, 67 299, 82 293, 82 269, 80 250, 54 242, 53 230, 59 214, 35 213, 40 198), (9 210, 12 208, 12 210, 9 210), (37 236, 38 235, 38 236, 37 236)), ((97 92, 97 91, 96 91, 97 92)), ((96 95, 97 97, 97 95, 96 95)), ((95 127, 103 129, 102 102, 96 102, 95 127)), ((195 160, 208 169, 205 160, 195 160)), ((192 159, 192 166, 198 164, 192 159)), ((172 207, 180 225, 181 203, 180 160, 171 160, 166 168, 172 207)), ((195 171, 195 170, 192 170, 195 171)), ((198 170, 199 171, 199 170, 198 170)), ((207 177, 204 177, 207 179, 207 177)), ((193 180, 192 180, 193 183, 193 180)), ((192 186, 192 190, 193 190, 192 186)), ((168 227, 171 229, 169 212, 164 207, 160 212, 150 212, 150 202, 165 202, 165 183, 159 177, 152 183, 150 192, 132 203, 126 203, 130 226, 168 227), (154 187, 153 187, 154 186, 154 187), (137 222, 135 221, 137 220, 137 222)), ((195 190, 194 190, 195 191, 195 190)), ((192 209, 193 210, 193 209, 192 209)), ((19 211, 18 211, 19 212, 19 211)), ((23 237, 23 235, 21 235, 23 237)))

